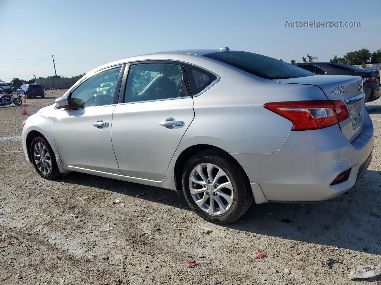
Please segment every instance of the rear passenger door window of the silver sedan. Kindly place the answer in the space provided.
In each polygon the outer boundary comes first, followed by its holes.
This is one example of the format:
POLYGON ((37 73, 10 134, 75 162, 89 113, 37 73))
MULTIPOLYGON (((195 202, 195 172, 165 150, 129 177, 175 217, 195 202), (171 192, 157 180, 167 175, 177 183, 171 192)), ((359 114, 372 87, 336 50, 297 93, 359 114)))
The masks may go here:
POLYGON ((124 102, 163 100, 188 96, 180 65, 141 63, 130 66, 124 102))

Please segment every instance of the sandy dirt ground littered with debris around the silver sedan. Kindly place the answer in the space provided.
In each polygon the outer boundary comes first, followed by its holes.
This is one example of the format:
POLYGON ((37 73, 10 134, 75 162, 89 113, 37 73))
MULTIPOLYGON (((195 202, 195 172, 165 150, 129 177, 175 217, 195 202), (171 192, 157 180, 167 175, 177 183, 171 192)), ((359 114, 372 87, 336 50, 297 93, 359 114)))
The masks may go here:
MULTIPOLYGON (((27 111, 63 93, 29 99, 27 111)), ((253 204, 229 225, 205 222, 171 190, 80 173, 42 179, 22 152, 28 115, 22 106, 0 107, 0 284, 374 282, 347 274, 381 264, 379 104, 366 106, 375 126, 373 160, 351 190, 324 203, 253 204), (85 196, 93 199, 77 198, 85 196), (112 204, 116 198, 120 204, 112 204), (100 232, 107 224, 114 229, 100 232), (258 250, 264 258, 254 258, 258 250), (341 263, 330 269, 327 258, 341 263), (192 259, 194 268, 187 265, 192 259)))

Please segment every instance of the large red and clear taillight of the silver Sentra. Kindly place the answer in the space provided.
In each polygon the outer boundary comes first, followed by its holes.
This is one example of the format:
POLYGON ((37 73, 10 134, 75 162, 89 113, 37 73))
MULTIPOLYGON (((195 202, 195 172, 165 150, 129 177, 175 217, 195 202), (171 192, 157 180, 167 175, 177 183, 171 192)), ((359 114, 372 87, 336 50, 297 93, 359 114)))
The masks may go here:
POLYGON ((349 117, 347 107, 339 100, 272 102, 264 107, 290 120, 291 131, 326 128, 349 117))

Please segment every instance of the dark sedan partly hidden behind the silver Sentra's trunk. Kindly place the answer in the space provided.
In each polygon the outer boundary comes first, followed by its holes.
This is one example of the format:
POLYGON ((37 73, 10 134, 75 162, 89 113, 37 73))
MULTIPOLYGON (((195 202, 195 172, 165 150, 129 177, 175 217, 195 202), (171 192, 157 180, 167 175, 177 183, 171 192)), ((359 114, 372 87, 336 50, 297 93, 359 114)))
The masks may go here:
POLYGON ((375 101, 381 96, 379 70, 363 70, 337 62, 303 62, 295 65, 315 74, 361 76, 365 102, 375 101))

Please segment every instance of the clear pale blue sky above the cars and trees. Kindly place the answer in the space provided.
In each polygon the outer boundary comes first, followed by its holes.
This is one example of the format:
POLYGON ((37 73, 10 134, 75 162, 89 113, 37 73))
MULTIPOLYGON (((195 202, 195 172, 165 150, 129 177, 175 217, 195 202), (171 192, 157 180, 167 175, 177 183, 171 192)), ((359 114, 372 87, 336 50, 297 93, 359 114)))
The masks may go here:
POLYGON ((72 76, 149 52, 219 48, 290 62, 381 48, 379 0, 0 0, 0 79, 72 76), (361 28, 289 28, 286 21, 361 22, 361 28), (5 34, 7 36, 5 36, 5 34))

